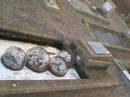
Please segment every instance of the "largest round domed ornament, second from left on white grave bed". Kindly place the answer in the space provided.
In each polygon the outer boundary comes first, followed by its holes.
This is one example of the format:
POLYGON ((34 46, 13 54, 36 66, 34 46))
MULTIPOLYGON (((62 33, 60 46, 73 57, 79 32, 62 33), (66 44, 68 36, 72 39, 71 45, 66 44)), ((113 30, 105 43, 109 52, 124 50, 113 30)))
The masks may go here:
POLYGON ((42 47, 34 47, 27 52, 26 66, 35 72, 44 72, 48 69, 50 57, 42 47))

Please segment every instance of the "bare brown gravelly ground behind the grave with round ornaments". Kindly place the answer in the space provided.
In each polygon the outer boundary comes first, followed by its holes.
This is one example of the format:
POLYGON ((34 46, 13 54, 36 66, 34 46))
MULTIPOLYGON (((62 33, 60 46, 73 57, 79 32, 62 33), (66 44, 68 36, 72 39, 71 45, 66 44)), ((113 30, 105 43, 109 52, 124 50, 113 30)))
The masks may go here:
MULTIPOLYGON (((57 4, 61 8, 58 11, 47 8, 43 0, 1 0, 0 28, 17 32, 11 33, 11 37, 22 33, 26 37, 35 35, 92 39, 93 36, 86 32, 87 29, 81 22, 82 19, 85 19, 90 24, 125 32, 124 24, 114 13, 108 17, 111 26, 107 27, 100 21, 81 15, 66 0, 57 0, 57 4)), ((6 35, 6 33, 1 32, 0 35, 6 35)))

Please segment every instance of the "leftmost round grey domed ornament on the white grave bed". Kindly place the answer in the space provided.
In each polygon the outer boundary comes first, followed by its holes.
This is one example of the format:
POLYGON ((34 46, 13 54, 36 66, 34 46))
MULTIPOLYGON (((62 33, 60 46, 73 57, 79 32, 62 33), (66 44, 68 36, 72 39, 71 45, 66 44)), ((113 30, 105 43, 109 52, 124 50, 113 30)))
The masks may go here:
POLYGON ((25 65, 25 52, 18 47, 9 47, 2 56, 3 65, 12 70, 20 70, 25 65))

